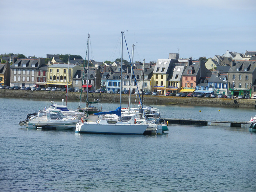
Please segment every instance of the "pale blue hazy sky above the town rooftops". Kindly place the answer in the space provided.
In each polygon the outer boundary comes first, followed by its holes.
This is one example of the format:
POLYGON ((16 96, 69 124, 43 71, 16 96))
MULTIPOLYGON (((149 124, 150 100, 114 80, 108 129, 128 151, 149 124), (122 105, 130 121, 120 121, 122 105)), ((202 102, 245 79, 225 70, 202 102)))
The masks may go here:
POLYGON ((255 0, 1 0, 0 54, 133 62, 256 51, 255 0), (124 41, 123 58, 129 61, 124 41), (88 59, 88 56, 87 58, 88 59))

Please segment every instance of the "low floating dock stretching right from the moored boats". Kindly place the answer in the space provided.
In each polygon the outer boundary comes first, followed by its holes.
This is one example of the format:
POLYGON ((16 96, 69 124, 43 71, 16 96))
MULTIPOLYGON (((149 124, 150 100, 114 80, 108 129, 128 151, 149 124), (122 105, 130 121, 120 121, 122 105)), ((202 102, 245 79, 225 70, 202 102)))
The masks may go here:
POLYGON ((161 122, 178 125, 197 125, 197 126, 227 126, 227 127, 250 127, 250 122, 230 122, 230 121, 206 121, 195 119, 167 119, 161 118, 161 122))

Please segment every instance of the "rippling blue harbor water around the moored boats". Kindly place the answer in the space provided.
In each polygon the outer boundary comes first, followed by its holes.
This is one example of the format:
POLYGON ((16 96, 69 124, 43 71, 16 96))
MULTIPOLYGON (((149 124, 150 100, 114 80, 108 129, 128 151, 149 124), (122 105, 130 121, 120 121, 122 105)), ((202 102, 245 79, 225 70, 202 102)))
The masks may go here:
MULTIPOLYGON (((162 135, 107 135, 19 126, 28 113, 49 105, 0 98, 1 192, 256 189, 256 134, 248 128, 169 124, 162 135)), ((68 107, 78 103, 68 102, 68 107)), ((102 107, 115 110, 118 104, 102 107)), ((256 115, 245 108, 154 107, 163 118, 249 121, 256 115)))

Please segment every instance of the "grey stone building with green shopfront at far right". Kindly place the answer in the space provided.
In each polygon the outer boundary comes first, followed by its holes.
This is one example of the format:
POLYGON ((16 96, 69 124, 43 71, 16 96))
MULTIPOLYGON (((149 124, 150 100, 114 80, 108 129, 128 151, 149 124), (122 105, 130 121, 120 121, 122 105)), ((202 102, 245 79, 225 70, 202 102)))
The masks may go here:
POLYGON ((256 94, 256 61, 235 61, 228 72, 231 95, 256 94), (252 89, 253 87, 253 89, 252 89))

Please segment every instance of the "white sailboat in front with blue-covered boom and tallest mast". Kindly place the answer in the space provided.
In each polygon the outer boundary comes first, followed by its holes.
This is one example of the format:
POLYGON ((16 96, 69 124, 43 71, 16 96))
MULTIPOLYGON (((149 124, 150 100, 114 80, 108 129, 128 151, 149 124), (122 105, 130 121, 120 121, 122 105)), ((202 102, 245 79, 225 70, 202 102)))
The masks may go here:
MULTIPOLYGON (((120 90, 122 90, 122 66, 123 66, 123 37, 124 32, 122 34, 122 51, 121 51, 121 78, 120 78, 120 90)), ((94 122, 84 122, 82 119, 81 122, 76 124, 76 133, 101 133, 101 134, 143 134, 147 124, 139 124, 136 123, 135 114, 128 114, 121 117, 121 94, 120 91, 120 106, 110 112, 99 112, 95 113, 94 118, 97 118, 98 115, 103 114, 116 114, 119 116, 118 120, 109 120, 109 119, 96 119, 94 122)))

